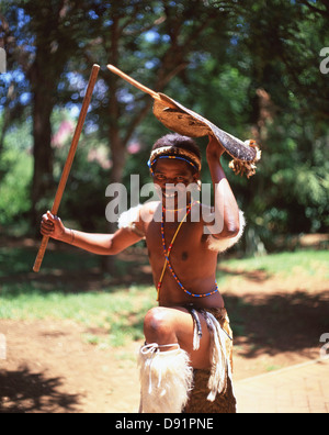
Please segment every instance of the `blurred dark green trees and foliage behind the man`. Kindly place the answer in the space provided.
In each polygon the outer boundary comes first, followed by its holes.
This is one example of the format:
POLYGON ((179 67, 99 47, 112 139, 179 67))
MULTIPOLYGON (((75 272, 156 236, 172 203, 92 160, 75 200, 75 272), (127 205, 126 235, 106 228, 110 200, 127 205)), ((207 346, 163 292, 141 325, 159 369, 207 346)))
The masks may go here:
MULTIPOLYGON (((2 0, 1 233, 35 235, 50 208, 92 63, 102 70, 59 211, 64 221, 113 230, 104 216, 107 185, 129 188, 131 174, 149 182, 149 149, 167 133, 149 97, 106 70, 112 63, 259 142, 252 179, 226 169, 249 223, 243 252, 327 233, 329 75, 319 66, 328 19, 328 0, 2 0)), ((205 150, 206 140, 198 143, 205 150)))

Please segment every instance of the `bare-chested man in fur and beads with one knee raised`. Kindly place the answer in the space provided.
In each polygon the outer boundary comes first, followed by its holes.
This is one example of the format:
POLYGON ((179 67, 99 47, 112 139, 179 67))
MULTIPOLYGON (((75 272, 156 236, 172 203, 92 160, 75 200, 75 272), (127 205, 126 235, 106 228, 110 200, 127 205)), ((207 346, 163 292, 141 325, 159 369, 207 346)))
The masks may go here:
POLYGON ((43 235, 99 255, 116 255, 146 239, 159 306, 144 323, 140 412, 218 412, 211 404, 219 397, 219 409, 235 412, 232 337, 216 266, 218 252, 240 237, 243 217, 220 165, 223 153, 209 136, 214 208, 192 201, 190 187, 198 186, 201 171, 197 145, 169 134, 155 144, 149 160, 160 201, 124 213, 115 234, 87 234, 66 228, 49 212, 43 216, 43 235), (206 373, 202 391, 197 373, 206 373))

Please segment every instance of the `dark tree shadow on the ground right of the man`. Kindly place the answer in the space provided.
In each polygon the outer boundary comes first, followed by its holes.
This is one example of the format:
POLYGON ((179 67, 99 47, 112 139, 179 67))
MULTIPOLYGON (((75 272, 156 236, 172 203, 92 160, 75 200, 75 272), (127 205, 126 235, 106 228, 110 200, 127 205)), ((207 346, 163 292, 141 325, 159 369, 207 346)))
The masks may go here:
POLYGON ((226 295, 235 343, 248 344, 243 356, 298 352, 319 347, 329 332, 329 290, 317 294, 226 295))

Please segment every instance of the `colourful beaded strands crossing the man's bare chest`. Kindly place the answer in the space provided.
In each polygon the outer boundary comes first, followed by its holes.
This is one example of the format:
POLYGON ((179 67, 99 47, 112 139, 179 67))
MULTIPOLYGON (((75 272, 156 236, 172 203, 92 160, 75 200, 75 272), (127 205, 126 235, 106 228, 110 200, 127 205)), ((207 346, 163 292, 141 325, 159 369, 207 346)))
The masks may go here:
POLYGON ((166 213, 166 208, 162 207, 161 237, 162 237, 162 246, 163 246, 163 254, 164 254, 164 259, 166 259, 166 261, 164 261, 163 269, 162 269, 162 274, 161 274, 161 277, 160 277, 160 280, 159 280, 159 283, 158 283, 158 301, 159 301, 160 290, 161 290, 161 287, 162 287, 162 280, 163 280, 163 276, 164 276, 164 271, 166 271, 167 266, 168 266, 168 268, 169 268, 171 275, 173 276, 174 280, 177 281, 177 283, 178 283, 178 285, 180 286, 180 288, 181 288, 186 294, 189 294, 190 297, 193 297, 193 298, 206 298, 206 297, 209 297, 209 295, 212 295, 212 294, 217 293, 217 291, 218 291, 218 285, 217 285, 216 281, 215 281, 215 285, 216 285, 215 290, 213 290, 213 291, 211 291, 211 292, 208 292, 208 293, 201 293, 201 294, 200 294, 200 293, 192 293, 191 291, 186 290, 186 289, 184 288, 184 286, 182 285, 182 282, 179 280, 178 276, 175 275, 175 272, 174 272, 174 270, 173 270, 173 268, 172 268, 172 266, 171 266, 171 263, 170 263, 170 260, 169 260, 169 256, 170 256, 170 254, 171 254, 171 250, 172 250, 172 247, 173 247, 173 243, 174 243, 174 241, 175 241, 175 238, 177 238, 177 236, 178 236, 178 234, 179 234, 179 232, 180 232, 180 230, 181 230, 183 223, 185 222, 186 217, 188 217, 189 214, 191 213, 192 207, 193 207, 195 203, 196 203, 196 201, 195 201, 193 204, 188 205, 188 212, 186 212, 184 219, 181 221, 179 227, 177 228, 177 232, 174 233, 174 236, 172 237, 172 241, 171 241, 171 243, 170 243, 168 249, 167 249, 167 246, 166 246, 166 237, 164 237, 164 213, 166 213))

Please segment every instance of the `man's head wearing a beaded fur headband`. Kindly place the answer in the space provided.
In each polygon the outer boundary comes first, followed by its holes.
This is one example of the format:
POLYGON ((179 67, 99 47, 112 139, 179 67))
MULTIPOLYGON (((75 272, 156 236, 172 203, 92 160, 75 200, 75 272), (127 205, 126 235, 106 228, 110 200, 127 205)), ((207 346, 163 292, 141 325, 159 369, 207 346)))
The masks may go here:
POLYGON ((183 187, 198 183, 201 152, 191 137, 168 134, 154 145, 148 165, 162 196, 177 198, 183 187))

